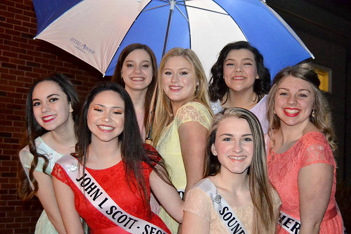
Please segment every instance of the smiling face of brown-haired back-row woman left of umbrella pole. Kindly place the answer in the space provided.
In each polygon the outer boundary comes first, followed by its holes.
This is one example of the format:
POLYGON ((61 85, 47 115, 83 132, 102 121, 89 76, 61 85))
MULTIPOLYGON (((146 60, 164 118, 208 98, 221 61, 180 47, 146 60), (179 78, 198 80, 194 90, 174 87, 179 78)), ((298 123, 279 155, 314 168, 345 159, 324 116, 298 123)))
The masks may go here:
POLYGON ((125 89, 144 90, 152 81, 152 59, 144 49, 135 49, 127 55, 122 64, 125 89))

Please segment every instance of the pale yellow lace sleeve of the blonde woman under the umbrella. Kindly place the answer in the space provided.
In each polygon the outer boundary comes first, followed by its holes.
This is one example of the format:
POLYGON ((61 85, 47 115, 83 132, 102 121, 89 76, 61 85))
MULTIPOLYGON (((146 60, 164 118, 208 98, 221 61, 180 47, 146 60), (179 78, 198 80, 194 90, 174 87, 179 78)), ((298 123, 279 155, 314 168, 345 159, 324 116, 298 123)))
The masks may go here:
POLYGON ((199 102, 189 102, 181 106, 175 117, 177 128, 179 128, 182 123, 197 121, 208 129, 210 128, 211 119, 212 116, 207 108, 199 102))

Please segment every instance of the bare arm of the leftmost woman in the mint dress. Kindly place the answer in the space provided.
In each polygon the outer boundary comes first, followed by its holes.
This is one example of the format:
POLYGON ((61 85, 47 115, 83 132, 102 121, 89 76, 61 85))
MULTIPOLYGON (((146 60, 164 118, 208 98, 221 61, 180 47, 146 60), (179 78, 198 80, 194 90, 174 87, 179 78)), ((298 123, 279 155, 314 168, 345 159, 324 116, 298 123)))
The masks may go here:
POLYGON ((65 234, 66 230, 55 199, 51 176, 39 171, 34 171, 33 176, 38 182, 38 192, 36 195, 45 209, 47 218, 59 234, 65 234))

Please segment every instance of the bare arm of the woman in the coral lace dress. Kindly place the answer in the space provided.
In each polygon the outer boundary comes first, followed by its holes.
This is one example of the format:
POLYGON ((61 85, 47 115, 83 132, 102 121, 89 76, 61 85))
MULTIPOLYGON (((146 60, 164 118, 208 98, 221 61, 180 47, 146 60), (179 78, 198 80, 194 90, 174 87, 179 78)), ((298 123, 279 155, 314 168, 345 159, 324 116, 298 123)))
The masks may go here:
POLYGON ((300 169, 300 234, 319 234, 333 185, 333 166, 316 163, 300 169))

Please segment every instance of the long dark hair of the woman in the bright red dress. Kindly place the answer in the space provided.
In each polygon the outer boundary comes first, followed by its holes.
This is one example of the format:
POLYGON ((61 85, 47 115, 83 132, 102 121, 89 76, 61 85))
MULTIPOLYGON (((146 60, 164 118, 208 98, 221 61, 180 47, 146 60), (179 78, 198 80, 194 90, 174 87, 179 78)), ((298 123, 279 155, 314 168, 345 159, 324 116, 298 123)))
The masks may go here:
POLYGON ((115 82, 102 82, 95 85, 89 92, 82 107, 83 118, 80 119, 78 125, 79 135, 77 145, 75 146, 76 153, 72 155, 77 157, 83 165, 84 174, 86 162, 88 160, 88 147, 91 143, 91 131, 88 128, 87 114, 90 103, 94 100, 95 96, 104 91, 113 91, 124 101, 124 128, 122 133, 118 136, 118 140, 121 144, 121 157, 125 169, 126 181, 130 188, 132 186, 137 188, 140 198, 146 204, 148 212, 150 213, 150 198, 147 194, 146 181, 144 178, 145 168, 142 162, 150 166, 153 171, 168 184, 172 185, 172 183, 161 156, 144 148, 132 99, 122 86, 115 82), (133 178, 135 178, 136 183, 133 178))

